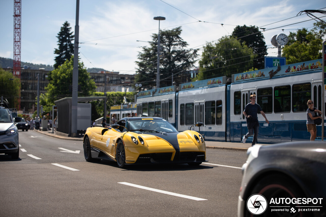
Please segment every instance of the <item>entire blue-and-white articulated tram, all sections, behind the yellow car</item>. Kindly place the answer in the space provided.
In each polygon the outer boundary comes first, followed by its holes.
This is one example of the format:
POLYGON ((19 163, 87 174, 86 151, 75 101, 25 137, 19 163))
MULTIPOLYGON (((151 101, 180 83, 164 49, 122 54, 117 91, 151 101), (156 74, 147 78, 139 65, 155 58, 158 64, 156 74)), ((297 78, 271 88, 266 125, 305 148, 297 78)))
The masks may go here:
MULTIPOLYGON (((137 116, 163 117, 179 131, 203 122, 200 128, 192 129, 206 140, 241 142, 248 131, 242 112, 250 95, 256 94, 256 103, 269 120, 267 124, 258 114, 258 143, 309 140, 306 103, 311 99, 314 107, 322 109, 321 62, 319 59, 238 73, 231 80, 224 76, 189 82, 180 84, 179 91, 175 86, 142 91, 137 98, 137 116)), ((323 119, 325 113, 324 109, 323 119)), ((317 126, 318 139, 321 125, 317 126)))

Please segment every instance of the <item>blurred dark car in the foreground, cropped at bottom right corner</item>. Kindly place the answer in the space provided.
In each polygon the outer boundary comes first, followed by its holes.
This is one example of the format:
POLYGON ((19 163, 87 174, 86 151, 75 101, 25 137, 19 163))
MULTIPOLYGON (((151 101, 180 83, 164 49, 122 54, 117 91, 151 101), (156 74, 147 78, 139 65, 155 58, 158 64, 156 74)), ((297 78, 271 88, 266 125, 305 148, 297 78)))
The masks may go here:
POLYGON ((326 143, 254 145, 238 199, 242 216, 325 216, 326 143))

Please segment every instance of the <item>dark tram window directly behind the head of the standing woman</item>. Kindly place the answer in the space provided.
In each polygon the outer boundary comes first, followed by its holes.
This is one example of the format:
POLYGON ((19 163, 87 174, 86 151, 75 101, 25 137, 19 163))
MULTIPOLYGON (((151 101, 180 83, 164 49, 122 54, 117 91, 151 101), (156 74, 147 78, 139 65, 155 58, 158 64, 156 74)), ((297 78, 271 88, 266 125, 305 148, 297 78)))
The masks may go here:
POLYGON ((305 112, 309 99, 311 99, 311 83, 292 85, 292 102, 295 102, 296 107, 300 108, 300 110, 293 109, 294 112, 305 112))

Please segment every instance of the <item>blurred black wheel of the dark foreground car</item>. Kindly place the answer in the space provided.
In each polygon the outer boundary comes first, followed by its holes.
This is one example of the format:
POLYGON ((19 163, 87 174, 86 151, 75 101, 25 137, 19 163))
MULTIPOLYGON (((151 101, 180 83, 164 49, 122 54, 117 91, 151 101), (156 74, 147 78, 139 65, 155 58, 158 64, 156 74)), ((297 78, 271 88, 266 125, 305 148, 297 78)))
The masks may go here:
MULTIPOLYGON (((246 198, 244 198, 245 205, 244 205, 244 216, 256 216, 254 214, 251 214, 248 209, 246 208, 247 200, 251 195, 254 194, 260 194, 263 195, 268 203, 267 210, 260 214, 259 216, 288 216, 285 211, 271 212, 271 208, 269 206, 273 206, 269 204, 269 201, 271 201, 272 198, 304 198, 306 197, 302 189, 293 181, 291 178, 289 178, 286 175, 283 174, 271 174, 267 175, 264 178, 260 179, 257 183, 253 183, 254 187, 253 189, 247 194, 246 198)), ((279 206, 282 206, 278 204, 279 206)), ((300 206, 300 205, 294 205, 290 204, 292 206, 300 206)), ((277 205, 276 205, 277 206, 277 205)), ((289 206, 289 205, 283 205, 283 206, 289 206)), ((297 212, 295 215, 290 216, 300 216, 300 217, 306 217, 311 215, 311 213, 306 212, 297 212)))

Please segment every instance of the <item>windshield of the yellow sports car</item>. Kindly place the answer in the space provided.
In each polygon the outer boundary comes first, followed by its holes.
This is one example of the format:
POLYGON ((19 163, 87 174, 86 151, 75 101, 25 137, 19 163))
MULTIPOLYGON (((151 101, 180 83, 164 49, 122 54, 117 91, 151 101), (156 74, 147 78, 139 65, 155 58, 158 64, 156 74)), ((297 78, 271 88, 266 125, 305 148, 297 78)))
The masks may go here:
POLYGON ((135 131, 136 133, 144 132, 144 130, 149 130, 150 132, 178 132, 175 127, 166 120, 155 120, 150 118, 146 119, 147 120, 140 119, 129 121, 129 131, 135 131))

